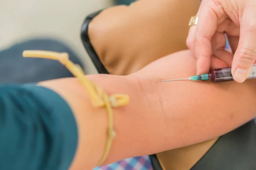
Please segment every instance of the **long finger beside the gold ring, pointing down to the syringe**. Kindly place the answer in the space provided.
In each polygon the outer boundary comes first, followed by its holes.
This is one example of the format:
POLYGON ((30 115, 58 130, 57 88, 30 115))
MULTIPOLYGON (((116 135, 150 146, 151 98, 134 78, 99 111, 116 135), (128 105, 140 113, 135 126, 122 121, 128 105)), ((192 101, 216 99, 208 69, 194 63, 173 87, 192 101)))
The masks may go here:
POLYGON ((197 74, 209 72, 212 44, 211 40, 218 25, 218 19, 223 16, 223 8, 214 0, 202 2, 195 31, 195 55, 197 57, 197 74))

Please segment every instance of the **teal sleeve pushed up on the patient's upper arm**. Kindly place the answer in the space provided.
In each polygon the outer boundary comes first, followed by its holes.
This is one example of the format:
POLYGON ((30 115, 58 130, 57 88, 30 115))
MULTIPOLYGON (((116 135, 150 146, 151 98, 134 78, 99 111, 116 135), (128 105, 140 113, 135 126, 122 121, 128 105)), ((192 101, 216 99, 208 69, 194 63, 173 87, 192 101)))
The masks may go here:
POLYGON ((0 85, 0 170, 67 170, 77 142, 61 96, 36 85, 0 85))

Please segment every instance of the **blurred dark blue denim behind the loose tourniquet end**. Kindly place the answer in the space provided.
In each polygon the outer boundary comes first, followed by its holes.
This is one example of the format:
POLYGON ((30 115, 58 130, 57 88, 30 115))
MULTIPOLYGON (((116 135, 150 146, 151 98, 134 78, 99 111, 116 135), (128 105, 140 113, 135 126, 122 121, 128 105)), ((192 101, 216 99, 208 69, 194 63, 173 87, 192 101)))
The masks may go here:
POLYGON ((62 42, 51 39, 28 40, 0 51, 0 83, 39 82, 49 79, 73 77, 67 68, 58 61, 41 58, 23 58, 22 52, 24 50, 67 52, 71 61, 81 65, 76 54, 62 42))

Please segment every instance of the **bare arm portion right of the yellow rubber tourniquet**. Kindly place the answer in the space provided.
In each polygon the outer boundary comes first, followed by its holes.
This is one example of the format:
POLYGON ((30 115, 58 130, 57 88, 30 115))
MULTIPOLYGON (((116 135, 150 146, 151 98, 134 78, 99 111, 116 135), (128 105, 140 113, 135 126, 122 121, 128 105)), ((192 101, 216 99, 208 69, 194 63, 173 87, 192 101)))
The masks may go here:
POLYGON ((256 116, 255 80, 160 82, 195 74, 195 58, 181 51, 128 77, 95 76, 94 81, 111 93, 125 91, 131 96, 129 106, 114 110, 118 136, 108 161, 214 139, 256 116), (137 79, 140 85, 129 85, 128 79, 137 79))

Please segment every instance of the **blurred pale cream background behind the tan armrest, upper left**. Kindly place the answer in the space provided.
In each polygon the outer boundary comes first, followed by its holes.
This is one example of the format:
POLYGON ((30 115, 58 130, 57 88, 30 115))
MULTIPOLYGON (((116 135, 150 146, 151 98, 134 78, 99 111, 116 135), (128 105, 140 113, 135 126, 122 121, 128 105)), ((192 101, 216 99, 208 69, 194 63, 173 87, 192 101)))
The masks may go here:
POLYGON ((30 37, 61 40, 84 63, 86 74, 97 73, 80 39, 88 14, 134 0, 0 0, 0 50, 30 37))

